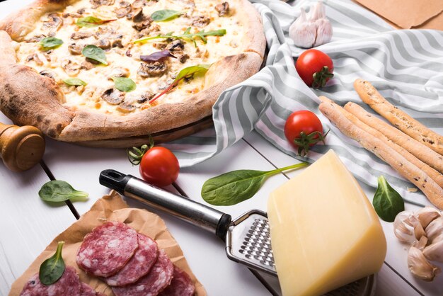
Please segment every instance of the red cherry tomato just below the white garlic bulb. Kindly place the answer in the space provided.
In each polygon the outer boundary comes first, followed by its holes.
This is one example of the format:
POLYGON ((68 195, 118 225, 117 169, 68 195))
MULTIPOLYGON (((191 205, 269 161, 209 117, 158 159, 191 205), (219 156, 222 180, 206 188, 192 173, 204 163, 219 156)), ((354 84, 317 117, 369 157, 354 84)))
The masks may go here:
POLYGON ((297 62, 295 69, 307 86, 323 87, 334 76, 334 64, 326 53, 320 50, 306 50, 297 62))

